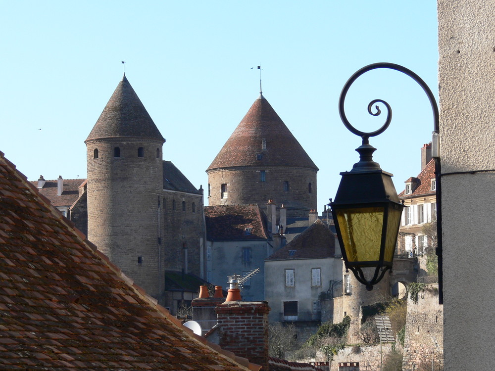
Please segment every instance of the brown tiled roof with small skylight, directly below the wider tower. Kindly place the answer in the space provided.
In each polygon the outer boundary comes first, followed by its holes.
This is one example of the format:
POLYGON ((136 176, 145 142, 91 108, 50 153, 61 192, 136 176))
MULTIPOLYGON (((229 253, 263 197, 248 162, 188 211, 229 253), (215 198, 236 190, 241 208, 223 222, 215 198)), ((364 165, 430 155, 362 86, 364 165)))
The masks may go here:
POLYGON ((267 239, 264 214, 258 205, 206 206, 208 241, 267 239), (251 228, 246 234, 246 228, 251 228))

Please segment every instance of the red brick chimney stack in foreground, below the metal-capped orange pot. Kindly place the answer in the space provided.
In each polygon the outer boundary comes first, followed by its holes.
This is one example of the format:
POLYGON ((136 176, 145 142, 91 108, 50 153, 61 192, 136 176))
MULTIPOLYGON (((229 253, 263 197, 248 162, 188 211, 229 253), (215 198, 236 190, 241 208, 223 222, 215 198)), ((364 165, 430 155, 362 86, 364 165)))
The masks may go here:
POLYGON ((220 347, 268 370, 268 302, 225 302, 215 311, 220 347))

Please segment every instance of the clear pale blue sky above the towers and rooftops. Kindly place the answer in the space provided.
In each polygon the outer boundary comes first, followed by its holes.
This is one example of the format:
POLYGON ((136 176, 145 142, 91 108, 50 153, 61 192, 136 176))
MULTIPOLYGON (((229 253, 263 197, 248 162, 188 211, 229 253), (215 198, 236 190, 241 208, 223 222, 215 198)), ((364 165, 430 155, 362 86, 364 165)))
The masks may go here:
MULTIPOLYGON (((164 159, 199 187, 259 92, 320 168, 318 211, 360 139, 337 104, 347 79, 374 62, 402 64, 437 92, 436 1, 11 1, 0 13, 0 150, 28 179, 86 177, 84 140, 122 78, 167 139, 164 159), (254 67, 253 70, 250 68, 254 67), (39 130, 41 129, 41 130, 39 130)), ((347 115, 373 131, 374 159, 398 191, 420 171, 431 108, 412 80, 372 73, 349 93, 347 115)), ((290 150, 290 148, 288 148, 290 150)))

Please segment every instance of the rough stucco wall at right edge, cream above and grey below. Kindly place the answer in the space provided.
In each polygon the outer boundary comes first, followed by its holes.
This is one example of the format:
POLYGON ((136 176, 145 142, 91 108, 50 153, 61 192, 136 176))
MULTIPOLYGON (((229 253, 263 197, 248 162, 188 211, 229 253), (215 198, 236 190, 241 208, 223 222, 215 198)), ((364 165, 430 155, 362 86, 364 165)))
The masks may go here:
POLYGON ((495 8, 439 0, 438 19, 445 370, 490 370, 495 173, 446 173, 495 169, 495 8))

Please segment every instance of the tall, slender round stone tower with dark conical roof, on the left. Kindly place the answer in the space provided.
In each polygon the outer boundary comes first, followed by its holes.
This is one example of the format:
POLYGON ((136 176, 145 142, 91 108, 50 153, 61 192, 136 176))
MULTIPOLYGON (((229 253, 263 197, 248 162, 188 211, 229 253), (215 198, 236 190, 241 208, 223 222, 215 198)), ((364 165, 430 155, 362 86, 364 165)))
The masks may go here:
POLYGON ((161 136, 127 78, 88 139, 88 239, 148 294, 163 293, 161 136))

